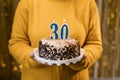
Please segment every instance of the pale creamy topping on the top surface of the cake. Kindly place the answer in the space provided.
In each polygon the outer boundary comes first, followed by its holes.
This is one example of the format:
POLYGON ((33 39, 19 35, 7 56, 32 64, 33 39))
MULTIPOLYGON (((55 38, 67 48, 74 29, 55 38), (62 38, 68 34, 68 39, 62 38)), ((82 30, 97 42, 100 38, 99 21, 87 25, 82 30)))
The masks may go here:
POLYGON ((54 45, 56 48, 63 48, 68 45, 76 45, 78 42, 75 39, 42 39, 42 44, 49 44, 50 46, 54 45))

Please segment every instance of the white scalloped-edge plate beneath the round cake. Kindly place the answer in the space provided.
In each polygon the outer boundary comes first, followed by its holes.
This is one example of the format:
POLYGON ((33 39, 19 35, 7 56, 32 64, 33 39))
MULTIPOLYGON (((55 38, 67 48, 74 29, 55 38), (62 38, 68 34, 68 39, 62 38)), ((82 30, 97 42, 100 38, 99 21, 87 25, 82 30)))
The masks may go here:
POLYGON ((37 60, 39 63, 47 63, 48 65, 53 65, 56 64, 57 66, 60 66, 62 64, 66 64, 69 65, 70 63, 75 64, 78 61, 81 61, 84 55, 84 49, 80 49, 80 56, 73 58, 73 59, 68 59, 68 60, 48 60, 48 59, 44 59, 39 57, 39 51, 38 48, 34 49, 34 54, 35 54, 35 60, 37 60))

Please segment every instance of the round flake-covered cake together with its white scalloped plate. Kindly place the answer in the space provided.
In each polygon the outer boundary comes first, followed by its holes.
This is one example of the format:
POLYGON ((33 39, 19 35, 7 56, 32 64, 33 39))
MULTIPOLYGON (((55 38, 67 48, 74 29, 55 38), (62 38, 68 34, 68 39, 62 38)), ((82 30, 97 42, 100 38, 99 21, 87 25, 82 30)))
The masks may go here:
POLYGON ((58 66, 75 64, 86 57, 77 40, 48 38, 40 40, 39 47, 30 56, 39 63, 58 66))

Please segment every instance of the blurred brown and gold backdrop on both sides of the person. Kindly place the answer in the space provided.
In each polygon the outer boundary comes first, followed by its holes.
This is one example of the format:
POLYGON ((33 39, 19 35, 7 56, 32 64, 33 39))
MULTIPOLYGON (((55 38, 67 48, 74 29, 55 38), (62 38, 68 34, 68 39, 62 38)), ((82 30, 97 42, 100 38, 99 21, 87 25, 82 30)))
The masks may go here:
MULTIPOLYGON (((120 80, 120 0, 96 0, 102 30, 103 55, 89 70, 91 80, 120 80)), ((20 80, 22 66, 8 51, 18 0, 0 0, 0 80, 20 80)))

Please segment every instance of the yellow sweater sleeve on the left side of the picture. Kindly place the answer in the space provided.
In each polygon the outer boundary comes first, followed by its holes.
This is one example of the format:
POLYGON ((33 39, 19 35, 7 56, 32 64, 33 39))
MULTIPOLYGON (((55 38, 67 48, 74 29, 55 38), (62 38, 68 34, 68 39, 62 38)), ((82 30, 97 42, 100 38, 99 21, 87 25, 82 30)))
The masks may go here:
POLYGON ((24 67, 37 67, 42 64, 37 63, 29 57, 33 47, 30 46, 28 37, 28 4, 27 0, 18 3, 12 27, 11 39, 9 40, 9 51, 15 60, 24 67))

